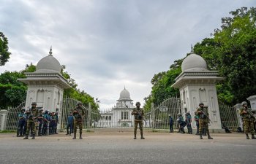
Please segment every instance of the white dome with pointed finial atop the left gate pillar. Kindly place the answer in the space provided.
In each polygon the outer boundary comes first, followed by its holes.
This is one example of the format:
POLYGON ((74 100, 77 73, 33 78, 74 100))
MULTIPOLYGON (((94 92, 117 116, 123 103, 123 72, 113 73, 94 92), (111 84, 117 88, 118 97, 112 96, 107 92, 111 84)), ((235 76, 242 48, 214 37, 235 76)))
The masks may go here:
POLYGON ((61 64, 53 57, 51 47, 49 55, 45 56, 45 58, 42 58, 37 63, 36 70, 36 73, 61 73, 61 64))

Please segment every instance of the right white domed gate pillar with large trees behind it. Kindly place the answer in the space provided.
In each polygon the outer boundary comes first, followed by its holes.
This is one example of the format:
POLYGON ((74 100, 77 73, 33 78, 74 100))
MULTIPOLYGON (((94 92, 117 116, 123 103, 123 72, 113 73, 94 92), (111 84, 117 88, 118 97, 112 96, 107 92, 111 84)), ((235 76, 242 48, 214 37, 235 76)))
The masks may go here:
POLYGON ((217 98, 216 82, 224 79, 218 77, 218 71, 209 71, 206 60, 196 55, 193 50, 181 65, 182 72, 175 79, 172 87, 178 87, 181 95, 181 111, 184 115, 189 111, 192 117, 200 102, 208 106, 208 113, 211 119, 210 130, 222 129, 219 104, 217 98))

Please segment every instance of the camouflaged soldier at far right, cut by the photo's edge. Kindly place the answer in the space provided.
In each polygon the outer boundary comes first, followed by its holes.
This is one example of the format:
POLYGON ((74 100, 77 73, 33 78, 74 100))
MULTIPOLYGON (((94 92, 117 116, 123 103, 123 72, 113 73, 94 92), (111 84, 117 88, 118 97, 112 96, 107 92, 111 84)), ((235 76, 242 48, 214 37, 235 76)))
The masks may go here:
POLYGON ((253 122, 255 121, 255 117, 252 114, 252 109, 248 108, 246 101, 242 102, 242 108, 240 109, 240 115, 243 119, 244 123, 244 133, 246 135, 246 139, 249 139, 248 132, 250 131, 252 134, 252 139, 255 138, 255 132, 253 129, 253 122))

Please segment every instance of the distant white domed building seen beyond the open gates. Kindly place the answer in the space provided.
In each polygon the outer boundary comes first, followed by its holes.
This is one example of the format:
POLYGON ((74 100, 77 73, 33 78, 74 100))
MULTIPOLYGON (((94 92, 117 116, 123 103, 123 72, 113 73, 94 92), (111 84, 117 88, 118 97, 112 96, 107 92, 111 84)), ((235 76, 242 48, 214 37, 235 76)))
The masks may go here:
POLYGON ((97 126, 99 128, 132 127, 134 125, 134 117, 131 114, 134 108, 129 92, 124 87, 116 106, 108 112, 101 112, 101 118, 97 126))

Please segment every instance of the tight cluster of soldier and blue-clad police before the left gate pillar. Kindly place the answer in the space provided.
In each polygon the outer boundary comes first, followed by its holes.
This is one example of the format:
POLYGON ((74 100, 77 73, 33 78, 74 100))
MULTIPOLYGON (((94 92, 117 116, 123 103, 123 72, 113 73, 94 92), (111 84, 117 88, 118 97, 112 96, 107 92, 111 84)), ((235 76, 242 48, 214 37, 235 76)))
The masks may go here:
POLYGON ((18 114, 18 130, 17 136, 25 136, 24 139, 29 138, 31 133, 32 139, 36 136, 36 129, 38 129, 38 136, 46 136, 57 133, 57 124, 59 122, 58 112, 49 112, 43 109, 37 109, 37 103, 33 102, 31 108, 25 110, 21 109, 18 114))

